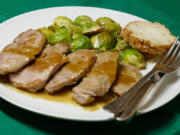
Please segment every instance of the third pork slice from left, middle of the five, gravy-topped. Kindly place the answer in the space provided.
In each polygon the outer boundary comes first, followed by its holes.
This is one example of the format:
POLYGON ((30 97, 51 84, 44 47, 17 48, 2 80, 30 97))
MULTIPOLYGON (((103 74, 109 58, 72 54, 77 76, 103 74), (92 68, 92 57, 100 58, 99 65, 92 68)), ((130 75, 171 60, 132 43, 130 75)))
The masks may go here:
POLYGON ((75 84, 89 72, 96 61, 96 54, 86 49, 77 50, 68 57, 70 62, 62 67, 46 85, 45 89, 49 93, 58 91, 64 86, 75 84))

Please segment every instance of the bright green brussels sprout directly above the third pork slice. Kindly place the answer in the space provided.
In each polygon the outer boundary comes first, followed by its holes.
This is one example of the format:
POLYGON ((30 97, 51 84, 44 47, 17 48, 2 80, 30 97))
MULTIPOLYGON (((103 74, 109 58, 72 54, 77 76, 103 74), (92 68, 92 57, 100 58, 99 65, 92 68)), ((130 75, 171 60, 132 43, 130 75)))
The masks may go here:
POLYGON ((72 41, 71 46, 72 52, 78 49, 89 49, 91 48, 91 41, 87 36, 78 34, 72 41))

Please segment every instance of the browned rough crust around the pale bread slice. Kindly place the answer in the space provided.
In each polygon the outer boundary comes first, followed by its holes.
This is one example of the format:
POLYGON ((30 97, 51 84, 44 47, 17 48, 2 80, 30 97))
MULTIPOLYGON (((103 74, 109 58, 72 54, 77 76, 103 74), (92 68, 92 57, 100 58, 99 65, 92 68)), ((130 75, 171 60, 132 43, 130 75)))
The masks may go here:
MULTIPOLYGON (((137 21, 134 21, 134 22, 137 22, 137 21)), ((173 44, 173 42, 172 42, 171 44, 164 44, 161 46, 156 45, 156 46, 152 47, 150 45, 149 40, 139 39, 139 38, 133 36, 133 31, 128 30, 128 26, 134 22, 130 22, 129 24, 127 24, 122 31, 124 40, 129 42, 129 44, 132 46, 132 48, 138 49, 139 51, 141 51, 143 53, 148 53, 148 54, 164 54, 167 52, 167 50, 173 44)), ((155 23, 157 23, 157 22, 155 22, 155 23)), ((164 28, 167 29, 165 26, 164 26, 164 28)), ((171 34, 171 32, 169 30, 168 30, 168 32, 171 34)), ((174 37, 174 41, 175 40, 176 40, 176 37, 174 37)))

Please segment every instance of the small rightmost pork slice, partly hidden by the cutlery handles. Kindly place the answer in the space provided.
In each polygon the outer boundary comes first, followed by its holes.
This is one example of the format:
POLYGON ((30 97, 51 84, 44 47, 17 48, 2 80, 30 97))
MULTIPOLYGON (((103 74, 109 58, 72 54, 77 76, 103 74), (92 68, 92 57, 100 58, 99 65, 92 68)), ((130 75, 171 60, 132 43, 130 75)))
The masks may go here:
POLYGON ((124 95, 142 77, 141 72, 135 66, 120 63, 116 81, 112 86, 112 91, 119 96, 124 95))

